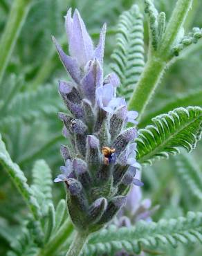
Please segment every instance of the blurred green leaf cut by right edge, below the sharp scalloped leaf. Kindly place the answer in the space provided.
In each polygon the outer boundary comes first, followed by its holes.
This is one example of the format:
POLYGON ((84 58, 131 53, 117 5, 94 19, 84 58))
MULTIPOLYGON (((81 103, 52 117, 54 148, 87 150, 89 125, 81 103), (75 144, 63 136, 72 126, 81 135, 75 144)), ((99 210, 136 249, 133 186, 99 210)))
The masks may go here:
POLYGON ((196 161, 187 154, 181 154, 175 160, 174 172, 178 174, 178 180, 196 199, 202 200, 202 176, 196 161))

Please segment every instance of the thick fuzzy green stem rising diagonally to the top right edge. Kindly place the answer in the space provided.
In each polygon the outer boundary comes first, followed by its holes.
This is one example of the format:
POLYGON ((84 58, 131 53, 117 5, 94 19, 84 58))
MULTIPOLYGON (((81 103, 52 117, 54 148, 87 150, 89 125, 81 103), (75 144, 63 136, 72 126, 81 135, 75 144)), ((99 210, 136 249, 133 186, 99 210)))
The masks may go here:
POLYGON ((139 112, 139 120, 158 86, 160 78, 163 77, 163 72, 171 58, 171 48, 183 26, 188 10, 192 6, 192 1, 177 1, 158 50, 149 52, 145 70, 129 100, 129 110, 136 109, 139 112))

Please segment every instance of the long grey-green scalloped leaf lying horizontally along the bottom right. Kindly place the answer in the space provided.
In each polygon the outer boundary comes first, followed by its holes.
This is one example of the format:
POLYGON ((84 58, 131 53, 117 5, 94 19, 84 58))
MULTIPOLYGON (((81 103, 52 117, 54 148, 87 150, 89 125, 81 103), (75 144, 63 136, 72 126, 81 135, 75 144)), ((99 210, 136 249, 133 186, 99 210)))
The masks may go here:
POLYGON ((186 217, 178 219, 161 219, 157 223, 139 221, 135 227, 116 228, 96 232, 89 239, 82 255, 114 255, 118 250, 127 253, 140 253, 141 246, 158 248, 161 244, 177 246, 202 243, 202 212, 188 212, 186 217))

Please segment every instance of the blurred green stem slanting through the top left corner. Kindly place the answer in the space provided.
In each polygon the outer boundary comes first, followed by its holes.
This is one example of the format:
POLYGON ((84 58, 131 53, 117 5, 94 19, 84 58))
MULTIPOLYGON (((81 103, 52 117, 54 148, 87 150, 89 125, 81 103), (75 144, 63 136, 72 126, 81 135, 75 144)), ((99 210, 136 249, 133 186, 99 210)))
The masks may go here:
POLYGON ((29 8, 30 0, 15 0, 12 3, 0 42, 0 84, 29 8))

